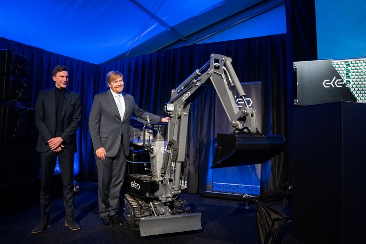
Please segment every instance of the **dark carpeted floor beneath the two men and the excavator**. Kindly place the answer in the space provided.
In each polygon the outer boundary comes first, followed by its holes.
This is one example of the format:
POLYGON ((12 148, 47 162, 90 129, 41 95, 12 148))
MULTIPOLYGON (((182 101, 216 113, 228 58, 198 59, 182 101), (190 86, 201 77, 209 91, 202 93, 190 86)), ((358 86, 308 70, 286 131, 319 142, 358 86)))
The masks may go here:
MULTIPOLYGON (((80 183, 75 196, 75 218, 82 229, 72 231, 64 226, 62 198, 52 201, 51 228, 40 234, 30 231, 38 224, 39 206, 0 218, 1 244, 258 244, 257 204, 218 198, 182 194, 192 212, 202 214, 202 230, 140 237, 139 233, 123 226, 105 227, 98 214, 97 183, 80 183)), ((26 200, 26 199, 25 199, 26 200)), ((287 243, 297 243, 287 237, 287 243)))

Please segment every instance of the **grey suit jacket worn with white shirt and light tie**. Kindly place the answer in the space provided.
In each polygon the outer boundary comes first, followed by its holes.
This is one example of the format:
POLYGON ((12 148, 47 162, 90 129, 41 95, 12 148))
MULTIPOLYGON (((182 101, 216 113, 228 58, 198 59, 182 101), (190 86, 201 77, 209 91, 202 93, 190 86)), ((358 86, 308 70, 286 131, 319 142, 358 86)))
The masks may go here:
POLYGON ((89 131, 95 150, 104 147, 106 157, 114 157, 119 149, 121 138, 126 155, 130 147, 131 115, 146 120, 149 116, 152 122, 161 122, 161 117, 149 113, 135 104, 134 98, 122 92, 125 100, 125 113, 121 121, 116 102, 110 90, 95 95, 89 116, 89 131))

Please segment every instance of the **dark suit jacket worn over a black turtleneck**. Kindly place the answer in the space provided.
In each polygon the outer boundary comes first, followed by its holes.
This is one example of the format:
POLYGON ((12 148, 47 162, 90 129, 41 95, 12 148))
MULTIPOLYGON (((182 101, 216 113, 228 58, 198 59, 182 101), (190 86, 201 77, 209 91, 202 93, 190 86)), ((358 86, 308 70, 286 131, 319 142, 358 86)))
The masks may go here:
MULTIPOLYGON (((39 131, 36 150, 47 152, 50 149, 47 141, 55 137, 56 132, 56 99, 55 88, 43 90, 39 93, 36 102, 35 125, 39 131)), ((66 90, 65 101, 62 109, 62 145, 71 153, 78 148, 76 144, 76 131, 81 117, 81 101, 78 93, 66 90)))

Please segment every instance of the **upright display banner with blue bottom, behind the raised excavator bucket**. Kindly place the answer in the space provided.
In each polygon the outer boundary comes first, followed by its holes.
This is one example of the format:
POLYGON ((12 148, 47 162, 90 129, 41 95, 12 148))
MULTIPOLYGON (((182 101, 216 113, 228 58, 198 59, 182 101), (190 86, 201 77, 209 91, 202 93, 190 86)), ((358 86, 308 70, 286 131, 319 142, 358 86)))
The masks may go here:
MULTIPOLYGON (((261 81, 241 83, 246 94, 247 105, 257 111, 257 128, 262 126, 262 92, 261 81)), ((235 95, 239 108, 244 104, 243 99, 235 95)), ((234 128, 216 95, 215 101, 215 135, 218 133, 234 135, 234 128)), ((215 137, 215 148, 217 138, 215 137)), ((259 195, 261 186, 261 164, 212 169, 212 190, 248 195, 259 195)))

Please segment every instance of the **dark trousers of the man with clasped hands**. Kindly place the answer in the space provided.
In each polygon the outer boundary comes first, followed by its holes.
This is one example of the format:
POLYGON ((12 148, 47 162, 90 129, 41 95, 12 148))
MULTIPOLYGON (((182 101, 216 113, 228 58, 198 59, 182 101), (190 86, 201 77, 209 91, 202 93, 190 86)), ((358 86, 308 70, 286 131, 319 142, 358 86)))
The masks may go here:
POLYGON ((41 159, 41 218, 50 219, 51 209, 51 186, 56 157, 61 169, 61 179, 63 185, 63 198, 66 216, 74 216, 74 153, 67 149, 61 152, 53 152, 51 149, 45 153, 40 153, 41 159))

